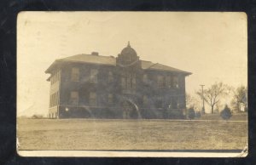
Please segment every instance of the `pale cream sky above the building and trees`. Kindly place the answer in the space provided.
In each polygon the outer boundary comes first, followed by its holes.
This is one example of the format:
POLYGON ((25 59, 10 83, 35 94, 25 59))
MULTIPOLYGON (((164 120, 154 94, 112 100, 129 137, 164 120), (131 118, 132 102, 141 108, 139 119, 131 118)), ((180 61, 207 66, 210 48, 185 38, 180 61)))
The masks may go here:
POLYGON ((128 41, 141 60, 192 72, 186 77, 191 95, 200 84, 247 86, 245 13, 20 12, 17 115, 47 115, 49 75, 44 71, 54 60, 94 51, 116 57, 128 41))

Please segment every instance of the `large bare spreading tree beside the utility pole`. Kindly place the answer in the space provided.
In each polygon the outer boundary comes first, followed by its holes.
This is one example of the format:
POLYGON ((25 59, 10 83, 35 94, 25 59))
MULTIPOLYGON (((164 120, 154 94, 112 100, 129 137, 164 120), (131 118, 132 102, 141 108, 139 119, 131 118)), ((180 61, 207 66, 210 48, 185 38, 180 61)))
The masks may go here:
POLYGON ((230 88, 224 83, 214 83, 211 87, 204 90, 204 94, 199 90, 196 92, 203 100, 206 101, 207 105, 211 106, 211 112, 213 114, 215 105, 218 104, 220 98, 224 95, 229 94, 230 88))

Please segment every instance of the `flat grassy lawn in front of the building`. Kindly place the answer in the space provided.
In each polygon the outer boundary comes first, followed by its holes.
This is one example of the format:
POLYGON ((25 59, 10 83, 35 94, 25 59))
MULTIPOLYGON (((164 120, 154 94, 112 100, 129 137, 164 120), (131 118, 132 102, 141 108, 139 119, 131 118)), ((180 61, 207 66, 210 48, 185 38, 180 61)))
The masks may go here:
POLYGON ((20 150, 241 150, 246 120, 20 118, 17 136, 20 150))

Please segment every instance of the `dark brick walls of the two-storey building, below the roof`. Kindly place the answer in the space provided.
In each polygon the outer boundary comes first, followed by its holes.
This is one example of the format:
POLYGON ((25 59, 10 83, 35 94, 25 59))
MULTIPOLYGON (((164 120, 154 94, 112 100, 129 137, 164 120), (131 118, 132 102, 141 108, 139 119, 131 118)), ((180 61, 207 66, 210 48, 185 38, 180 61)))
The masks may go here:
MULTIPOLYGON (((139 67, 124 70, 112 65, 67 63, 56 70, 55 75, 58 76, 55 76, 57 77, 55 83, 51 83, 50 87, 50 95, 56 95, 55 104, 49 107, 50 117, 53 118, 123 118, 125 100, 130 106, 138 109, 129 114, 129 117, 136 118, 169 118, 170 111, 173 109, 182 111, 185 108, 185 77, 181 74, 168 71, 143 71, 139 67), (78 81, 72 81, 72 68, 79 68, 78 81), (90 71, 92 69, 98 71, 96 82, 91 82, 90 71), (113 75, 112 81, 109 80, 109 71, 113 75), (122 88, 121 77, 127 71, 136 75, 136 88, 122 88), (147 75, 146 81, 143 79, 145 74, 147 75), (159 76, 178 77, 179 87, 173 88, 168 84, 159 87, 159 76), (79 94, 76 103, 71 100, 72 92, 79 94), (90 93, 96 94, 95 105, 90 104, 90 93), (112 103, 109 102, 109 94, 113 94, 112 103), (145 100, 147 103, 144 103, 145 100), (173 106, 174 103, 177 107, 173 106)), ((54 76, 50 79, 54 80, 54 76)))

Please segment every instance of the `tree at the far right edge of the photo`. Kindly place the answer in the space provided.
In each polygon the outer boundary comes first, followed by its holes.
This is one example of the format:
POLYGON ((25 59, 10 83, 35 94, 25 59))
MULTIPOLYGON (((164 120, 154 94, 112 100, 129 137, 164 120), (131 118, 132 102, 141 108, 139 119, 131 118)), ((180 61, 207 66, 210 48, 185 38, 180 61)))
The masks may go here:
POLYGON ((241 85, 238 88, 232 88, 233 99, 231 100, 231 107, 234 111, 241 111, 241 105, 245 106, 247 110, 247 87, 241 85))

